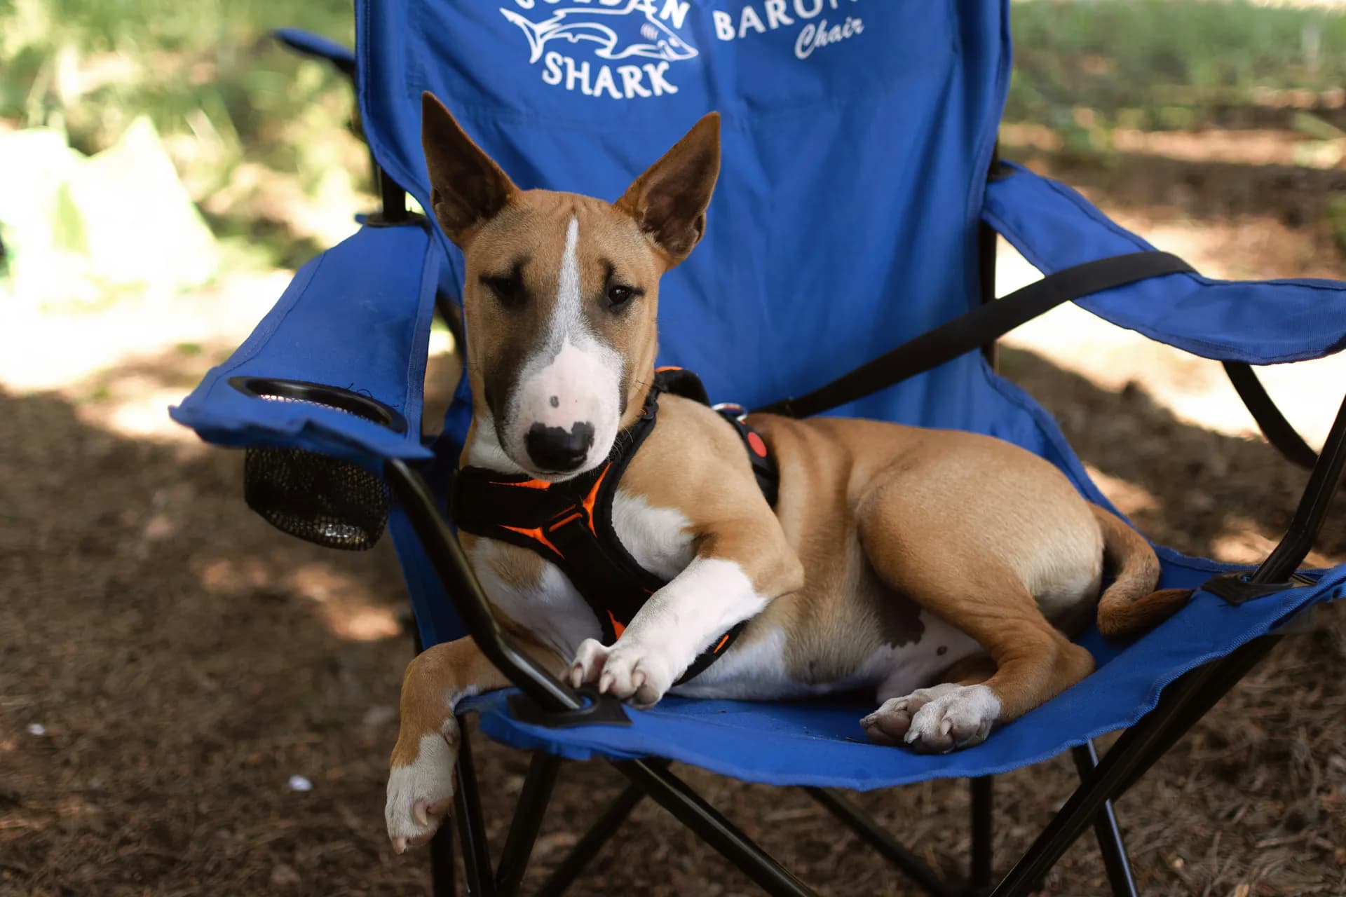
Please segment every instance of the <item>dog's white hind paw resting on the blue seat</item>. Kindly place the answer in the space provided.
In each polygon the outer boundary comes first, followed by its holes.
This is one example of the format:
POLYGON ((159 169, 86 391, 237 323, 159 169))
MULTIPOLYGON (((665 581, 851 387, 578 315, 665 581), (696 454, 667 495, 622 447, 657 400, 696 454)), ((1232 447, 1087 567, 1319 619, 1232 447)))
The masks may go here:
POLYGON ((999 717, 1000 699, 987 686, 945 682, 884 701, 860 725, 876 744, 948 753, 985 741, 999 717))

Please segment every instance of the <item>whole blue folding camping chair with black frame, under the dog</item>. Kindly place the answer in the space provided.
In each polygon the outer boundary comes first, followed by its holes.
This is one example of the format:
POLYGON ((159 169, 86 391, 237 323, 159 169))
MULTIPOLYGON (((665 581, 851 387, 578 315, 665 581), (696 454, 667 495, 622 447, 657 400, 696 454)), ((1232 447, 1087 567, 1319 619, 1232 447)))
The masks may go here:
MULTIPOLYGON (((1031 890, 1089 826, 1113 890, 1135 893, 1109 802, 1267 654, 1287 620, 1346 589, 1346 565, 1299 570, 1346 461, 1346 406, 1319 457, 1249 367, 1346 346, 1346 284, 1202 277, 1070 188, 997 161, 1008 0, 355 8, 354 56, 300 34, 283 39, 353 73, 382 211, 300 269, 172 416, 207 441, 246 446, 246 498, 280 529, 363 549, 386 524, 420 644, 470 633, 517 686, 464 705, 491 738, 536 752, 493 871, 462 745, 455 800, 470 893, 517 892, 557 765, 587 757, 611 761, 630 785, 542 893, 560 893, 645 796, 766 892, 813 893, 680 781, 669 760, 804 787, 929 893, 989 893, 991 777, 1065 750, 1081 785, 993 893, 1031 890), (697 371, 712 397, 991 433, 1049 459, 1106 506, 1053 420, 992 363, 996 336, 1074 300, 1225 363, 1272 444, 1312 468, 1289 531, 1253 570, 1158 549, 1162 586, 1197 589, 1190 605, 1131 644, 1086 633, 1097 672, 960 753, 867 744, 859 718, 871 707, 845 701, 668 698, 634 711, 583 698, 495 625, 452 535, 444 496, 468 422, 467 378, 443 434, 420 432, 431 321, 437 309, 459 327, 463 278, 456 249, 406 210, 402 192, 428 206, 423 90, 443 98, 521 187, 604 198, 621 195, 703 113, 723 114, 707 238, 661 288, 661 363, 697 371), (995 233, 1044 280, 995 300, 995 233), (1117 729, 1127 732, 1098 761, 1090 738, 1117 729), (966 882, 942 881, 840 791, 931 777, 972 781, 966 882)), ((432 855, 436 893, 452 893, 447 826, 432 855)))

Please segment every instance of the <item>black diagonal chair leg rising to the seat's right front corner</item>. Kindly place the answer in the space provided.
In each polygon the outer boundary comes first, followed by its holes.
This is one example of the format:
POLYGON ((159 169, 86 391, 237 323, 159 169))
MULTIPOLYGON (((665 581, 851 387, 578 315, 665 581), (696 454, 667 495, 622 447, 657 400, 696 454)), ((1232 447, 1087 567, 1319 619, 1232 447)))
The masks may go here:
POLYGON ((1229 656, 1193 670, 1170 685, 1159 705, 1117 740, 1098 768, 1075 789, 1028 853, 996 886, 992 897, 1026 897, 1089 827, 1104 802, 1114 797, 1125 783, 1154 765, 1160 756, 1154 748, 1170 744, 1175 728, 1180 732, 1195 722, 1195 717, 1187 713, 1189 709, 1213 703, 1211 694, 1224 694, 1237 682, 1229 674, 1246 668, 1250 659, 1264 656, 1276 640, 1277 636, 1265 636, 1245 644, 1229 656))

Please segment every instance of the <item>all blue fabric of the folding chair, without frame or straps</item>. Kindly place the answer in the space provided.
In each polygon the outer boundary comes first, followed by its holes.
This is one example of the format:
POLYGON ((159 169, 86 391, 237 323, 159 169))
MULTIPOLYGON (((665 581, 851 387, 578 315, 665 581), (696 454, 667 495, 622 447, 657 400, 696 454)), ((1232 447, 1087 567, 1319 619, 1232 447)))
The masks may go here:
MULTIPOLYGON (((361 0, 359 104, 377 160, 423 206, 424 89, 521 186, 606 198, 618 196, 704 112, 719 109, 724 169, 705 241, 661 289, 661 362, 696 370, 717 401, 755 405, 804 393, 975 304, 983 217, 1044 270, 1144 246, 1074 194, 1027 172, 987 190, 1008 78, 1007 5, 773 4, 786 23, 762 0, 361 0), (822 20, 824 34, 840 26, 839 40, 806 52, 806 30, 816 36, 822 20)), ((415 227, 361 231, 299 273, 257 334, 175 418, 230 445, 299 445, 370 464, 427 457, 413 433, 250 399, 225 378, 350 385, 401 410, 415 429, 436 285, 451 295, 462 285, 462 258, 437 231, 433 239, 415 227)), ((1342 346, 1341 289, 1170 276, 1082 304, 1201 354, 1289 360, 1342 346), (1271 321, 1273 304, 1281 317, 1271 321)), ((428 468, 440 498, 468 401, 464 378, 428 468)), ((1042 455, 1106 504, 1050 416, 977 354, 837 413, 999 436, 1042 455)), ((448 596, 400 512, 389 531, 423 639, 455 637, 460 627, 448 596)), ((1164 585, 1199 585, 1225 569, 1167 549, 1159 554, 1164 585)), ((754 781, 852 788, 985 775, 1129 725, 1174 676, 1308 602, 1339 597, 1343 582, 1346 566, 1323 573, 1316 588, 1237 608, 1199 594, 1125 647, 1089 633, 1096 675, 984 745, 946 757, 865 744, 857 719, 872 702, 669 699, 631 711, 631 728, 557 732, 511 721, 503 693, 468 706, 493 737, 571 757, 650 753, 754 781)))

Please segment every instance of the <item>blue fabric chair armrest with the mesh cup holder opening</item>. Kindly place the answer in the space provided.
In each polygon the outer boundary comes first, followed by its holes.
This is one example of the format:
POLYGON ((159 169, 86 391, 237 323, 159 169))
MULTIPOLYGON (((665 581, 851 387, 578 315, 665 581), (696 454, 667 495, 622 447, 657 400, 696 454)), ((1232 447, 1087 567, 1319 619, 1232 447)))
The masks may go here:
POLYGON ((371 469, 429 459, 420 424, 440 265, 421 226, 361 229, 300 268, 244 344, 170 414, 219 445, 300 448, 371 469), (293 382, 326 387, 334 401, 293 382), (380 406, 388 420, 369 420, 380 406))

